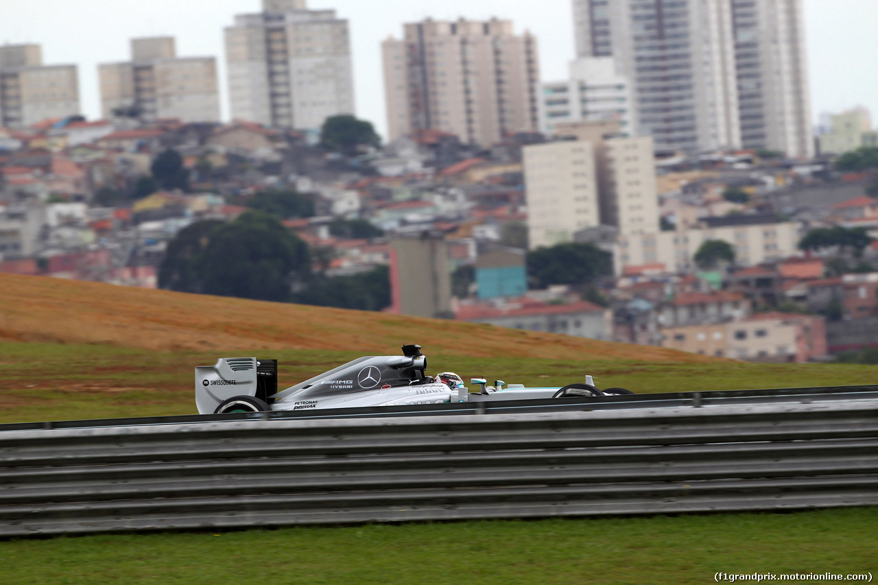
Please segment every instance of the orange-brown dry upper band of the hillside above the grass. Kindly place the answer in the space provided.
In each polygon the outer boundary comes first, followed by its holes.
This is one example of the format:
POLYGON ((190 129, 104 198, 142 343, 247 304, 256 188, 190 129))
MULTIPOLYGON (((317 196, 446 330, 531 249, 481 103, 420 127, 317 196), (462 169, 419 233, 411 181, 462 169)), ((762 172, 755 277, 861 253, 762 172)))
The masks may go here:
POLYGON ((0 274, 0 339, 146 350, 349 349, 706 362, 696 354, 391 314, 0 274))

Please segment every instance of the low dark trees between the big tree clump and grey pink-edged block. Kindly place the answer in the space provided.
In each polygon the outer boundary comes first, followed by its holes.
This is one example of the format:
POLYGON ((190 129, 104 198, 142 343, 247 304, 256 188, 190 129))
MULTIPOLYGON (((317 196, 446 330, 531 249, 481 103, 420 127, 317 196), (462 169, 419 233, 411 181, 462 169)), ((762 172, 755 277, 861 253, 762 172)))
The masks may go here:
POLYGON ((351 276, 321 278, 294 294, 292 300, 303 305, 380 311, 392 302, 390 271, 378 266, 351 276))

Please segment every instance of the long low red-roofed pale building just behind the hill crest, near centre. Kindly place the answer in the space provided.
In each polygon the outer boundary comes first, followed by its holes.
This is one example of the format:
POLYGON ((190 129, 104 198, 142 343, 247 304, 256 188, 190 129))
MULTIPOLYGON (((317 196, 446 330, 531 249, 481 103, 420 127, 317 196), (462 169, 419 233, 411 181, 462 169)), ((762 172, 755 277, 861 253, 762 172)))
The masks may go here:
POLYGON ((551 305, 521 297, 500 304, 462 304, 457 307, 456 318, 458 321, 592 339, 610 339, 613 330, 613 312, 585 300, 551 305))

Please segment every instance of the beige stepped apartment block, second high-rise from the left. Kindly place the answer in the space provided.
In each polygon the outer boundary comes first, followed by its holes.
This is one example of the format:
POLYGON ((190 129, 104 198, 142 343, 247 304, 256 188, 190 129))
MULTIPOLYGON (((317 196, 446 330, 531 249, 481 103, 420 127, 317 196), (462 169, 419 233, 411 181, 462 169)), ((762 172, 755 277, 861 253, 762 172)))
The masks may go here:
POLYGON ((144 121, 219 121, 215 58, 177 57, 173 37, 132 39, 131 58, 98 66, 104 118, 136 108, 144 121))

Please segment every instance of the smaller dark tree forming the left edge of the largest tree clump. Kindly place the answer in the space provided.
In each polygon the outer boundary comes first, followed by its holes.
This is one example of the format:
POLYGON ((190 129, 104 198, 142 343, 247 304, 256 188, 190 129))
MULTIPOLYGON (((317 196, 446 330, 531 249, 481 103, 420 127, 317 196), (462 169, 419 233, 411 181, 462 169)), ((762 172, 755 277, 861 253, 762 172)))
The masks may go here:
POLYGON ((219 220, 198 221, 181 229, 168 242, 159 265, 159 288, 182 293, 203 293, 203 256, 215 229, 225 225, 219 220))

